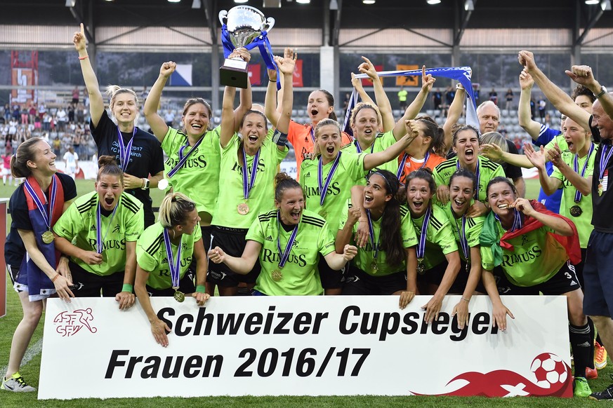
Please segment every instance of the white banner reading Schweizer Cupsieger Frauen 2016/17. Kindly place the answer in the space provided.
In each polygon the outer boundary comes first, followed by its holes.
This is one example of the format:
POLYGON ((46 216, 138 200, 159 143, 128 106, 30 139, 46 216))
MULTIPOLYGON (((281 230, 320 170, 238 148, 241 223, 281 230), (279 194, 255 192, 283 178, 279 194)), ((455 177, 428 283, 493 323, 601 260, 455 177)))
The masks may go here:
POLYGON ((503 297, 515 315, 492 327, 486 296, 470 324, 445 297, 426 325, 416 297, 152 298, 171 327, 155 343, 138 305, 48 299, 39 399, 207 395, 572 396, 565 297, 503 297), (68 359, 67 359, 68 358, 68 359), (67 381, 70 373, 70 381, 67 381))

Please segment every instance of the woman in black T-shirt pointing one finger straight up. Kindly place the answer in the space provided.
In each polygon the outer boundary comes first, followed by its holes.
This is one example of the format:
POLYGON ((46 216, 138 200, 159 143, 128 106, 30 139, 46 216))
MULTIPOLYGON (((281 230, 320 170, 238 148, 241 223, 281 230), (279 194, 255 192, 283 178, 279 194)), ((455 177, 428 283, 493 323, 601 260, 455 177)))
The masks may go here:
POLYGON ((91 98, 90 128, 98 146, 98 154, 110 154, 119 161, 124 170, 126 192, 143 203, 145 226, 150 226, 155 219, 149 189, 157 187, 158 181, 164 176, 162 147, 153 135, 136 128, 134 123, 138 116, 138 100, 133 90, 119 86, 107 89, 110 95, 109 107, 117 125, 112 121, 105 111, 98 79, 87 55, 83 24, 81 31, 74 33, 72 41, 79 53, 81 72, 91 98), (151 179, 147 178, 150 175, 151 179))

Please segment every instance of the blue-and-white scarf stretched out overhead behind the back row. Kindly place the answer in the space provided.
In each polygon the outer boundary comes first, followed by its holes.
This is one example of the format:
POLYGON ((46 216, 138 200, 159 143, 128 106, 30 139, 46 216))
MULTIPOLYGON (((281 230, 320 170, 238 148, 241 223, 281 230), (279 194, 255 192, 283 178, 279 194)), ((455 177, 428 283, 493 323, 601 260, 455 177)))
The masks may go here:
MULTIPOLYGON (((414 69, 411 71, 383 71, 378 72, 378 76, 421 76, 421 69, 414 69)), ((443 68, 428 68, 426 74, 431 74, 434 77, 441 76, 443 78, 455 79, 459 81, 464 89, 466 89, 466 95, 470 103, 466 104, 466 124, 474 126, 479 129, 479 119, 477 118, 477 102, 475 102, 475 93, 473 93, 473 83, 471 77, 473 75, 473 69, 470 67, 443 67, 443 68)), ((356 74, 356 78, 368 78, 367 74, 356 74)), ((345 115, 345 123, 343 129, 347 132, 349 128, 349 118, 351 110, 357 103, 358 96, 357 91, 354 89, 349 100, 349 106, 347 108, 347 114, 345 115)), ((404 112, 402 112, 404 114, 404 112)))

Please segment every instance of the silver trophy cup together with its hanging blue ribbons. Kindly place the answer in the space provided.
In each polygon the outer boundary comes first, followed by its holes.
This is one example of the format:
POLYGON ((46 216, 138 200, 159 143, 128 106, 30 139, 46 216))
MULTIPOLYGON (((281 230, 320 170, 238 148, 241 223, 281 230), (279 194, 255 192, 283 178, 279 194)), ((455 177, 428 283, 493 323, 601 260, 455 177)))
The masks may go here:
MULTIPOLYGON (((249 80, 246 63, 244 62, 243 65, 238 60, 228 59, 230 53, 238 47, 244 47, 247 50, 258 47, 266 67, 279 72, 272 57, 270 41, 268 41, 268 32, 275 25, 274 18, 266 18, 261 11, 251 6, 236 6, 230 8, 230 11, 220 11, 219 21, 221 22, 223 55, 226 58, 223 67, 220 68, 222 85, 246 88, 244 79, 249 80), (227 22, 224 22, 224 19, 227 22)), ((277 75, 277 89, 281 89, 279 75, 277 75)))

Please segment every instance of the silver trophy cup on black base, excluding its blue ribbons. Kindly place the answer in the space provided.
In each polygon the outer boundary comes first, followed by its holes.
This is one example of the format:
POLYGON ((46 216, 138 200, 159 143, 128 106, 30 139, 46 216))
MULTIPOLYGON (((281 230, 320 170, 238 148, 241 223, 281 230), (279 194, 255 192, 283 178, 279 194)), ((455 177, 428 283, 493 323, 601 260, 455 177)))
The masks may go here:
MULTIPOLYGON (((256 41, 263 31, 270 31, 275 25, 275 19, 268 19, 257 8, 251 6, 236 6, 230 11, 219 12, 219 21, 223 25, 226 20, 227 39, 234 48, 246 47, 256 41)), ((223 34, 222 34, 223 35, 223 34)), ((226 58, 223 66, 219 68, 220 83, 235 88, 246 88, 249 83, 247 62, 241 57, 226 58)))

